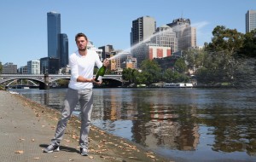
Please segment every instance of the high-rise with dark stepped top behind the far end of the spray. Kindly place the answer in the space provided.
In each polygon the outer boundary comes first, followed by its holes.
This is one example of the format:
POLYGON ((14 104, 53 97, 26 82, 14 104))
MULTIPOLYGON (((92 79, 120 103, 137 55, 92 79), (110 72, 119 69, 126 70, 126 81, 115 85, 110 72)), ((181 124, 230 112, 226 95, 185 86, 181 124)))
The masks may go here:
POLYGON ((190 26, 189 19, 179 18, 167 24, 172 27, 173 32, 177 36, 177 50, 188 50, 195 48, 196 45, 196 29, 190 26))

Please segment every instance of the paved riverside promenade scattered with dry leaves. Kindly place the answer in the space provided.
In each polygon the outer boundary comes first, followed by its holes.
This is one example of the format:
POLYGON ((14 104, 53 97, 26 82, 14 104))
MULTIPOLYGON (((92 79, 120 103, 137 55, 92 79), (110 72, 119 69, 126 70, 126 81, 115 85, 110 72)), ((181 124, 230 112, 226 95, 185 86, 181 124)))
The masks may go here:
POLYGON ((43 153, 59 117, 56 110, 0 90, 0 161, 171 161, 95 126, 90 129, 89 156, 83 157, 79 154, 80 121, 76 117, 68 122, 61 151, 43 153))

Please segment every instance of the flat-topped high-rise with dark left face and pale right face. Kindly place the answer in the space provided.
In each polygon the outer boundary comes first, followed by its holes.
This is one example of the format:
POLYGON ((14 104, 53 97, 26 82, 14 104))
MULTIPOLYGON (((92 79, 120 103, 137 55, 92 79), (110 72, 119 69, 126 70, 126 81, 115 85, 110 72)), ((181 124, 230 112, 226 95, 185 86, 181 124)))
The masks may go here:
POLYGON ((150 41, 155 28, 156 22, 152 17, 144 16, 133 20, 131 27, 131 46, 143 41, 150 41))

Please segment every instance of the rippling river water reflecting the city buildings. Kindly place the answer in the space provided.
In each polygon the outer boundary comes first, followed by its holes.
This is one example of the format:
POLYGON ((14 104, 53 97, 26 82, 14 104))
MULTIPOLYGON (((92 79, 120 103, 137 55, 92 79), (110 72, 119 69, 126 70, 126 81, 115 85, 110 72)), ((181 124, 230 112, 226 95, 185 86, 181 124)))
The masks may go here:
MULTIPOLYGON (((61 110, 67 89, 12 91, 61 110)), ((94 89, 94 103, 92 124, 167 158, 256 161, 255 89, 94 89)))

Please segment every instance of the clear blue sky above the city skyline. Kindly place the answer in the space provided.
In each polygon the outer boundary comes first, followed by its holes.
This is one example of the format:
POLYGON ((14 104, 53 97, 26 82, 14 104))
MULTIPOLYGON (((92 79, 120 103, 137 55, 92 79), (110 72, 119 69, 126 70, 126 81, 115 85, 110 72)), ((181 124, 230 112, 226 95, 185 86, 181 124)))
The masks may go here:
POLYGON ((69 40, 84 32, 96 47, 129 49, 132 20, 150 16, 156 27, 178 18, 196 27, 197 45, 211 42, 216 26, 245 33, 245 14, 256 0, 0 0, 0 61, 18 67, 48 55, 47 13, 61 14, 61 33, 69 40))

